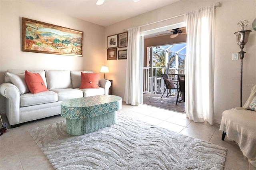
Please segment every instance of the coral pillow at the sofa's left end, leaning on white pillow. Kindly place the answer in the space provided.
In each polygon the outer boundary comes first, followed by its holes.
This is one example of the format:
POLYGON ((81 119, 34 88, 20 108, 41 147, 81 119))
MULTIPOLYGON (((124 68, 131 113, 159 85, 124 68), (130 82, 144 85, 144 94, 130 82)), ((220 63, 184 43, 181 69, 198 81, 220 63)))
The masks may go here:
POLYGON ((32 94, 48 91, 44 84, 44 80, 39 73, 30 73, 29 71, 25 71, 25 81, 32 94))

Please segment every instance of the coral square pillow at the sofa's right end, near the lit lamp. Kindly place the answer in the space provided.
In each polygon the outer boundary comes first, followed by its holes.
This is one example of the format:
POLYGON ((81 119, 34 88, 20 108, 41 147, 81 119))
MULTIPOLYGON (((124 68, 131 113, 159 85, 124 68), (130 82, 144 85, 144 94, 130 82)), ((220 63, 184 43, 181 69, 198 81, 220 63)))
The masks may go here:
POLYGON ((81 85, 80 89, 98 89, 98 82, 100 79, 99 73, 83 73, 81 72, 81 85))

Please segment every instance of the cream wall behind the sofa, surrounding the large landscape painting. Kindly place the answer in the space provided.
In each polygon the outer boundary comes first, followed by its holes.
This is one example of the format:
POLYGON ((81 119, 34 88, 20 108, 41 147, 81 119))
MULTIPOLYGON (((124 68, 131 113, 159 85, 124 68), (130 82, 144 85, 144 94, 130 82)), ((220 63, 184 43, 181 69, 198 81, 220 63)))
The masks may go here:
MULTIPOLYGON (((100 72, 105 57, 105 28, 22 0, 0 0, 0 83, 6 69, 65 69, 100 72), (22 17, 84 32, 83 57, 22 51, 22 17)), ((100 75, 103 78, 103 74, 100 75)), ((4 111, 1 96, 1 113, 4 111)))

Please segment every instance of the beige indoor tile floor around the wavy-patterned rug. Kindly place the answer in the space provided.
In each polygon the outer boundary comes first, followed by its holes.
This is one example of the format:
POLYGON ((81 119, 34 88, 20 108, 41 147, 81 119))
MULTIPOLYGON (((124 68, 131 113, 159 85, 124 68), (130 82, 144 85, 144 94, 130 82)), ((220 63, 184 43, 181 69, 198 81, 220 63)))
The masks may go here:
MULTIPOLYGON (((186 118, 185 114, 159 109, 141 104, 131 106, 123 103, 118 114, 125 114, 134 119, 170 129, 187 136, 199 138, 218 144, 228 149, 224 170, 256 170, 243 156, 239 147, 231 141, 221 140, 222 132, 218 124, 194 123, 186 118)), ((6 117, 3 117, 6 121, 6 117)), ((54 122, 65 121, 60 115, 9 129, 0 136, 0 170, 53 170, 48 159, 38 148, 28 129, 48 125, 54 122)))

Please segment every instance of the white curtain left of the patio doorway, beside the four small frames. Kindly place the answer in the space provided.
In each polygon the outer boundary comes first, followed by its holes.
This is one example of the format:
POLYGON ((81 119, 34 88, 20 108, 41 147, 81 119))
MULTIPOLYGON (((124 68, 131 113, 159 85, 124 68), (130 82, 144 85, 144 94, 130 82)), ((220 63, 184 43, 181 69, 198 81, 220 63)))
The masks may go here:
POLYGON ((126 104, 140 103, 140 27, 128 29, 126 81, 124 101, 126 104))

